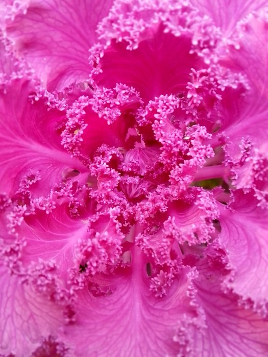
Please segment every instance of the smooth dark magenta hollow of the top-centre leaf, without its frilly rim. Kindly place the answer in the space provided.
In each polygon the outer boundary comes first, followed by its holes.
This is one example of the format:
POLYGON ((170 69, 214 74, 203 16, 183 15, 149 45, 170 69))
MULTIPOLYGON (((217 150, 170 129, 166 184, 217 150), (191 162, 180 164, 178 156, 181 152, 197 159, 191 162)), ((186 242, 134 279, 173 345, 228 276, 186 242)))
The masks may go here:
POLYGON ((190 38, 165 34, 162 28, 141 41, 137 49, 126 47, 126 42, 112 42, 100 61, 102 73, 93 79, 108 88, 116 83, 132 86, 145 101, 160 94, 184 92, 191 68, 202 65, 196 54, 190 54, 190 38))

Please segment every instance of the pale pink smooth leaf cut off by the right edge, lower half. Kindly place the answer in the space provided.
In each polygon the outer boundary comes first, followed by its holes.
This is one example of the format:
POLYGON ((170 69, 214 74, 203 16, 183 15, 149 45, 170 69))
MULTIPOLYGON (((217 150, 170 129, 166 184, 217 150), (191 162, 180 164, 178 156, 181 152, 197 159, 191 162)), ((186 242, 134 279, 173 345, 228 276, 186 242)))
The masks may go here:
POLYGON ((235 191, 231 209, 223 209, 220 218, 220 242, 233 270, 225 283, 243 300, 252 300, 256 310, 266 314, 268 212, 257 207, 252 193, 245 195, 241 190, 235 191))

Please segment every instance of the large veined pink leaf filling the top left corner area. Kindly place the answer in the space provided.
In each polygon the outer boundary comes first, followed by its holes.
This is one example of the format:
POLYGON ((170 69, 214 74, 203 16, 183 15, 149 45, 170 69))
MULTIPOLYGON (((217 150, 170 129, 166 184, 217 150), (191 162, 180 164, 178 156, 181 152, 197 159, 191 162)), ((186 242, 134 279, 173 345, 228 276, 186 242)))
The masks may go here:
POLYGON ((88 77, 88 49, 113 0, 32 0, 7 24, 18 55, 26 56, 49 90, 88 77))

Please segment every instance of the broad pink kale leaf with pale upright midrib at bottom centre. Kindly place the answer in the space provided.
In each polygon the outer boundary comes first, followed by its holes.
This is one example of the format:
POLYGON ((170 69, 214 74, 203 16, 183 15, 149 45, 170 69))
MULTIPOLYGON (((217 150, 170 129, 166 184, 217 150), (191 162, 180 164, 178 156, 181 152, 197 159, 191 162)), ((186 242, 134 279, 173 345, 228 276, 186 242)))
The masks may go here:
POLYGON ((173 336, 179 319, 183 313, 189 320, 196 316, 186 293, 190 273, 182 271, 168 295, 157 298, 149 291, 147 260, 139 248, 134 250, 131 268, 99 277, 99 290, 81 293, 77 322, 64 331, 69 344, 76 345, 77 356, 177 355, 179 344, 173 336))

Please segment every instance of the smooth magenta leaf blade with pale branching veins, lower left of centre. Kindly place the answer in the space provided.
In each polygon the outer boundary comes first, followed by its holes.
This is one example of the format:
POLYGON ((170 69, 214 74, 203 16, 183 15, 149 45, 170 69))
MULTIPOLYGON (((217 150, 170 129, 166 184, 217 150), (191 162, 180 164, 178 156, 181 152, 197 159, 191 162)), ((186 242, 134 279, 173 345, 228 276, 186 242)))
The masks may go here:
POLYGON ((55 260, 65 277, 75 258, 75 247, 79 239, 87 236, 87 225, 70 216, 70 203, 62 204, 50 214, 36 210, 25 217, 19 234, 26 240, 22 261, 27 266, 39 259, 55 260))

